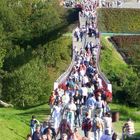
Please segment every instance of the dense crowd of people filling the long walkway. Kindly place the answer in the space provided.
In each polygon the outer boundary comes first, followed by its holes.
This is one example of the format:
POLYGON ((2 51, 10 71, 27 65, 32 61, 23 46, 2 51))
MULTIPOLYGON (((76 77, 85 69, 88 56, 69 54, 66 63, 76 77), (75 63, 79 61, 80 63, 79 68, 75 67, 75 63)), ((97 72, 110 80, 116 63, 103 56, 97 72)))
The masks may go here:
MULTIPOLYGON (((78 49, 74 47, 75 64, 65 80, 50 96, 50 122, 39 121, 32 116, 31 135, 28 140, 116 140, 111 111, 108 105, 111 93, 97 71, 97 55, 100 38, 97 29, 94 0, 84 0, 80 17, 85 24, 74 31, 76 41, 84 37, 94 38, 78 49), (78 131, 82 129, 84 136, 78 131)), ((124 129, 125 130, 125 129, 124 129)))

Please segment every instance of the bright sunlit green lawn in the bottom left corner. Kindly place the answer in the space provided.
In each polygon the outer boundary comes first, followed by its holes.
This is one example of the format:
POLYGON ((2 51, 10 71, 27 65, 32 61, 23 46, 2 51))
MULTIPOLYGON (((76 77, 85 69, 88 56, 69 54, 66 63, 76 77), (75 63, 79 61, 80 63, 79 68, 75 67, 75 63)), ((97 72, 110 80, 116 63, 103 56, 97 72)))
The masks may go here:
POLYGON ((43 121, 50 114, 48 105, 40 105, 26 110, 0 108, 0 139, 25 140, 30 133, 29 122, 32 115, 43 121))

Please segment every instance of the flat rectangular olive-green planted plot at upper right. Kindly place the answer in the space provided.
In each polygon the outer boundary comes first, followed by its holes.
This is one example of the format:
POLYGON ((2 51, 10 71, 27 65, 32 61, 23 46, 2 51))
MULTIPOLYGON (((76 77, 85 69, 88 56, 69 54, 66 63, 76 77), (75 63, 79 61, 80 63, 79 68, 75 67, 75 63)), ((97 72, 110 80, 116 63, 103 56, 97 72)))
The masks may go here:
POLYGON ((98 28, 101 32, 140 33, 139 9, 98 9, 98 28))

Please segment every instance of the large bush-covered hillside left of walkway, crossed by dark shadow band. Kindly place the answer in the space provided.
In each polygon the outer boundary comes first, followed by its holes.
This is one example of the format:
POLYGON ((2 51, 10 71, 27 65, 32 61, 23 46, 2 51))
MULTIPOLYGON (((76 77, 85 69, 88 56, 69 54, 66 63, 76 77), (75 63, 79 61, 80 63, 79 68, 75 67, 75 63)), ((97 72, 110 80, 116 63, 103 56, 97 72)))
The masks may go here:
POLYGON ((18 108, 47 103, 53 82, 71 62, 66 34, 78 10, 57 0, 2 0, 0 13, 0 99, 18 108))

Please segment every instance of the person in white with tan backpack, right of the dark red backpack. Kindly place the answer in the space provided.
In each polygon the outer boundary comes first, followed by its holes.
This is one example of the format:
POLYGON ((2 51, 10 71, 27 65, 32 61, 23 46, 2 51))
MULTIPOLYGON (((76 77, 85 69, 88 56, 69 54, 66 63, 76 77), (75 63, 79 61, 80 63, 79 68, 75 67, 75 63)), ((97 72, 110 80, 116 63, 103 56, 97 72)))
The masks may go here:
POLYGON ((103 133, 103 121, 97 114, 95 114, 93 119, 92 131, 94 133, 94 140, 100 140, 103 133))

